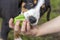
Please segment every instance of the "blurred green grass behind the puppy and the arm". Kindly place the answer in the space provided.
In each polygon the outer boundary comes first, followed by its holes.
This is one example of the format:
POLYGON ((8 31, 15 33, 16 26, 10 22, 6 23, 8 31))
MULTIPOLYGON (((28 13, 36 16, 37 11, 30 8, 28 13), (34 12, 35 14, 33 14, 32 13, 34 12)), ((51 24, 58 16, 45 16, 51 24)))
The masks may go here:
MULTIPOLYGON (((51 0, 51 7, 52 7, 52 11, 51 11, 50 19, 60 16, 60 0, 51 0)), ((0 18, 0 29, 1 29, 2 20, 3 19, 0 18)), ((43 15, 39 24, 41 25, 45 22, 47 22, 46 14, 43 15)), ((22 36, 22 38, 23 38, 23 40, 60 40, 60 36, 56 36, 56 35, 57 34, 55 34, 55 35, 53 34, 53 35, 47 35, 47 36, 43 36, 43 37, 22 36)), ((8 40, 13 40, 13 31, 9 32, 8 40)))

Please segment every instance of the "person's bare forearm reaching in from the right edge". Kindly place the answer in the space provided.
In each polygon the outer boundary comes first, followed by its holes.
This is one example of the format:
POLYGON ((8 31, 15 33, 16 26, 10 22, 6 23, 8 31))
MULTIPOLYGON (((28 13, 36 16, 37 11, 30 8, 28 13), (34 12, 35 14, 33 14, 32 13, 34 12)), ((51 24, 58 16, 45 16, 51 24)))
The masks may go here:
POLYGON ((36 36, 60 32, 60 16, 39 26, 36 36))

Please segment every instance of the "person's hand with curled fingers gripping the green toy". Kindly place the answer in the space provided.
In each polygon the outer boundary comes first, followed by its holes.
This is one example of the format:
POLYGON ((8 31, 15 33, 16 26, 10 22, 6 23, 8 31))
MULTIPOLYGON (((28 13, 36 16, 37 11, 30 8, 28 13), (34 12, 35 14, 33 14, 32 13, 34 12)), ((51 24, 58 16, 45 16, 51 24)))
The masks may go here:
POLYGON ((16 31, 22 35, 31 35, 32 36, 32 35, 37 34, 37 28, 35 28, 35 27, 31 28, 29 21, 24 20, 22 23, 23 25, 21 27, 19 26, 19 24, 20 24, 19 20, 16 22, 15 25, 13 23, 13 18, 11 18, 9 20, 9 27, 11 29, 14 29, 14 31, 16 31))

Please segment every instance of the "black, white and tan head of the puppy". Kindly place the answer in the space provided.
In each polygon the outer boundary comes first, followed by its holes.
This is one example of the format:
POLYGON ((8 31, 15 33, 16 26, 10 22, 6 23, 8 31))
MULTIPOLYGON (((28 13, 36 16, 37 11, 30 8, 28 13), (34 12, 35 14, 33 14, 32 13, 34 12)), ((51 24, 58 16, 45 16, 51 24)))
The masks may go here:
POLYGON ((50 0, 25 0, 22 3, 22 13, 27 20, 30 21, 32 25, 36 25, 38 23, 39 18, 46 12, 47 20, 49 20, 51 6, 50 0))

